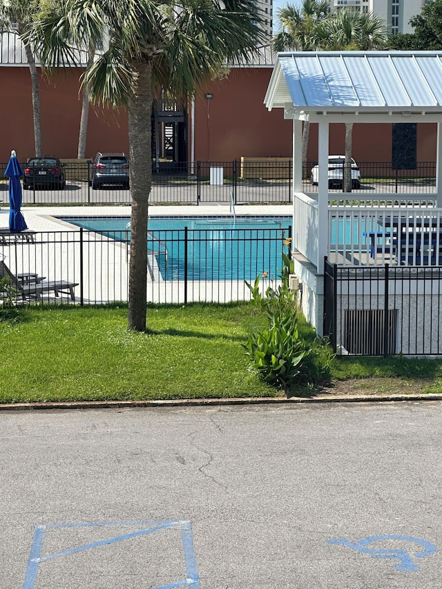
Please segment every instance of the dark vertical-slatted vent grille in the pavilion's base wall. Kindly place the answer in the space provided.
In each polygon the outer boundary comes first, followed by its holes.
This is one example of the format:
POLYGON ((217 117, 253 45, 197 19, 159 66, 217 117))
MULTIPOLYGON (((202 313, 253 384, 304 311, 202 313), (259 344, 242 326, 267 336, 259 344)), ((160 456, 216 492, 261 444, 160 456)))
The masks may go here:
POLYGON ((349 354, 396 354, 397 309, 349 309, 344 312, 344 347, 349 354), (385 329, 387 336, 385 337, 385 329), (387 350, 385 350, 385 345, 387 350))

